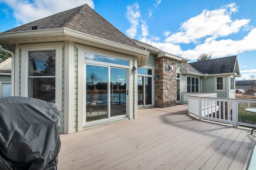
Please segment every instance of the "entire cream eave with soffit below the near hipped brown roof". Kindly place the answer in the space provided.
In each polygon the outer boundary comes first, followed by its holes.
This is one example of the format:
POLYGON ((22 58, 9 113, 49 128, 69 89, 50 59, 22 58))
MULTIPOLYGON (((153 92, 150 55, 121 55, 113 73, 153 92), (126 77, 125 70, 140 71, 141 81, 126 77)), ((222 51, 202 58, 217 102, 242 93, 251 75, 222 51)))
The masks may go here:
POLYGON ((46 43, 58 41, 74 41, 84 45, 106 49, 130 56, 138 60, 138 66, 146 65, 149 51, 137 49, 99 37, 81 33, 67 28, 38 29, 31 31, 18 31, 0 33, 0 44, 4 49, 15 52, 16 44, 46 43))

